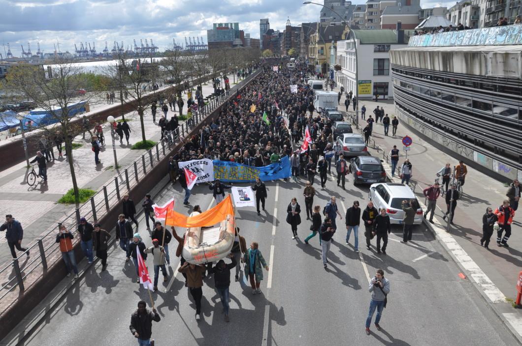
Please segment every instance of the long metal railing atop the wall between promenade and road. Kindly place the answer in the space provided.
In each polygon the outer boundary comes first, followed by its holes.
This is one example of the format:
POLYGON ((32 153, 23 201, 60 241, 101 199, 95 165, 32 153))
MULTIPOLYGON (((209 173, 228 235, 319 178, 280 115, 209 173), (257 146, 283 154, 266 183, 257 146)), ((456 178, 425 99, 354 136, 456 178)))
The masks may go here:
MULTIPOLYGON (((176 131, 177 133, 168 133, 160 142, 146 151, 132 164, 120 169, 114 179, 109 180, 100 191, 94 194, 87 202, 75 208, 74 212, 58 222, 57 227, 64 225, 75 234, 76 226, 79 224, 81 217, 94 221, 102 218, 111 208, 121 201, 123 194, 131 191, 153 167, 169 154, 173 144, 187 137, 188 133, 194 127, 204 121, 207 116, 220 107, 221 104, 227 101, 233 94, 238 92, 246 83, 257 77, 262 70, 263 68, 260 67, 256 71, 253 71, 250 76, 238 84, 235 84, 234 87, 220 96, 213 98, 204 107, 198 109, 197 113, 193 113, 191 118, 180 125, 176 131)), ((56 227, 52 227, 42 233, 39 239, 31 244, 25 252, 21 253, 17 258, 14 258, 0 269, 0 280, 2 281, 0 286, 0 292, 2 292, 0 293, 0 300, 4 299, 9 292, 13 292, 16 288, 18 288, 19 292, 25 291, 25 281, 27 281, 27 278, 35 270, 42 270, 41 274, 34 277, 38 279, 40 276, 45 275, 52 264, 61 260, 62 255, 60 248, 56 244, 57 229, 56 227), (28 256, 29 252, 32 253, 31 257, 28 256), (39 255, 36 255, 37 253, 39 255)), ((76 244, 78 241, 78 237, 75 237, 73 244, 76 244)), ((33 282, 35 281, 36 280, 33 282)), ((29 286, 30 285, 31 283, 29 282, 29 286)), ((14 300, 16 300, 16 298, 14 300)))

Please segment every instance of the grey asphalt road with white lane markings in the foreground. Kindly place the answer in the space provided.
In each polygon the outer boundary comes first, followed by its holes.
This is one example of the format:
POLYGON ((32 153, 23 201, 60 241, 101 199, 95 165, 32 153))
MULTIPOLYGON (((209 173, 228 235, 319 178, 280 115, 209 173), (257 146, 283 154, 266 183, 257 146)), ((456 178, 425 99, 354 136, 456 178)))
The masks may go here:
MULTIPOLYGON (((314 204, 325 205, 330 195, 344 206, 354 200, 365 207, 367 188, 347 190, 336 187, 334 177, 327 190, 317 190, 314 204)), ((353 252, 353 236, 345 245, 346 229, 337 219, 339 230, 331 246, 329 267, 324 269, 318 238, 310 245, 303 239, 309 234, 310 222, 304 211, 304 179, 294 182, 268 182, 266 212, 257 216, 254 208, 238 209, 236 221, 247 244, 259 242, 270 271, 264 272, 263 293, 252 295, 243 276, 232 278, 230 289, 230 323, 224 322, 219 295, 213 289, 213 278, 205 279, 202 319, 195 320, 195 305, 183 277, 163 283, 153 293, 161 321, 152 326, 156 345, 516 345, 517 342, 488 308, 459 270, 451 257, 423 225, 414 229, 413 241, 399 243, 401 229, 393 228, 387 255, 377 255, 364 246, 359 231, 360 254, 353 252), (296 196, 302 207, 301 240, 291 239, 285 222, 286 208, 296 196), (277 214, 275 209, 277 208, 277 214), (275 226, 275 227, 273 227, 275 226), (388 306, 381 319, 382 331, 372 324, 371 336, 365 335, 368 312, 369 276, 377 268, 391 281, 388 306)), ((314 187, 319 188, 316 183, 314 187)), ((206 186, 194 188, 192 205, 206 209, 212 196, 206 186)), ((155 201, 160 204, 174 195, 176 210, 187 212, 179 184, 162 190, 155 201)), ((192 207, 191 207, 192 208, 192 207)), ((182 230, 178 230, 181 233, 182 230)), ((140 233, 151 243, 143 217, 140 233)), ((375 239, 372 241, 375 244, 375 239)), ((172 275, 179 263, 174 256, 176 241, 170 246, 172 275)), ((149 301, 147 291, 136 283, 132 262, 124 261, 119 248, 109 251, 108 270, 101 272, 95 262, 66 298, 51 313, 25 345, 137 344, 129 331, 130 315, 140 299, 149 301)), ((152 270, 152 259, 147 261, 152 270)))

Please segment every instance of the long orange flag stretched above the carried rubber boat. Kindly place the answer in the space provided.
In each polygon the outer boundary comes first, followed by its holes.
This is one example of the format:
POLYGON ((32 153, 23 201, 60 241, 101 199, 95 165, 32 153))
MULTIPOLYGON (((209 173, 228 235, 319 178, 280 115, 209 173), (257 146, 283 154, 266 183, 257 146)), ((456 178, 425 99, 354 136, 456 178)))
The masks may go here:
POLYGON ((175 212, 173 209, 167 212, 165 225, 177 227, 205 227, 214 226, 227 219, 227 215, 234 215, 230 194, 218 205, 208 209, 199 215, 189 217, 175 212))

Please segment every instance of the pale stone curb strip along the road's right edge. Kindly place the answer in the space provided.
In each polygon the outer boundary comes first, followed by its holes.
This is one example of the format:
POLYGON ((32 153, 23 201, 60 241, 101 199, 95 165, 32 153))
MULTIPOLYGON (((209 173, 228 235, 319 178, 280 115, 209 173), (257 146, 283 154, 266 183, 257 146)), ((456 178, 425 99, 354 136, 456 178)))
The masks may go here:
MULTIPOLYGON (((395 181, 395 177, 392 177, 391 166, 386 162, 382 162, 382 165, 386 171, 387 179, 390 182, 398 182, 395 181)), ((426 211, 427 208, 423 202, 419 201, 419 205, 423 212, 426 211)), ((443 246, 444 250, 446 250, 450 257, 452 257, 455 264, 457 264, 460 270, 462 270, 462 273, 464 273, 469 279, 472 287, 480 294, 487 306, 489 306, 495 315, 501 320, 504 327, 506 327, 512 333, 513 337, 517 339, 518 343, 522 345, 522 334, 514 327, 514 324, 522 325, 522 314, 509 305, 506 301, 506 296, 496 287, 493 281, 485 275, 482 269, 480 269, 466 251, 462 249, 455 238, 453 238, 452 234, 446 232, 446 229, 444 229, 442 224, 436 218, 434 218, 433 221, 435 224, 431 224, 427 219, 422 218, 423 224, 430 230, 433 237, 443 246), (511 319, 509 320, 506 315, 513 318, 509 318, 511 319)))

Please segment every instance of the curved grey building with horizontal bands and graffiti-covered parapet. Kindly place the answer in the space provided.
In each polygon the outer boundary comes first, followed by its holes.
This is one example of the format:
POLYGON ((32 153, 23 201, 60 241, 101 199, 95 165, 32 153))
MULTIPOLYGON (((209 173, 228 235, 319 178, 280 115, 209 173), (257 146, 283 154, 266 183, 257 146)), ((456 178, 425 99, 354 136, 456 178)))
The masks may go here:
POLYGON ((522 26, 412 36, 390 52, 397 116, 507 179, 522 179, 522 26))

